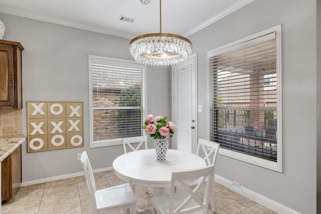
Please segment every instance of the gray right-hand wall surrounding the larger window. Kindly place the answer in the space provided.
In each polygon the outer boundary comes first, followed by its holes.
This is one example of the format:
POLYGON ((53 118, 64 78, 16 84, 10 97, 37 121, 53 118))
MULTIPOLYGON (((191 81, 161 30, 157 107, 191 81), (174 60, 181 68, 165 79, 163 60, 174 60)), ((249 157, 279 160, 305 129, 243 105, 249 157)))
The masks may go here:
MULTIPOLYGON (((301 213, 316 212, 314 1, 256 0, 192 35, 198 52, 199 137, 207 138, 206 52, 282 24, 283 173, 219 155, 216 174, 301 213)), ((318 78, 320 79, 320 77, 318 78)), ((318 103, 320 102, 318 98, 318 103)))

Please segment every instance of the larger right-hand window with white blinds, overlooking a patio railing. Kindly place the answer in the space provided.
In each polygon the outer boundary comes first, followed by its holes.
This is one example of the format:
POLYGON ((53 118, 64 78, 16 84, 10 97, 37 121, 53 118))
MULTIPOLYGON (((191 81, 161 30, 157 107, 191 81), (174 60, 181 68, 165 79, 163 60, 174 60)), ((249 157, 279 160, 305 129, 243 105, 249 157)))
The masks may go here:
POLYGON ((277 53, 275 31, 208 54, 209 137, 228 156, 278 164, 277 53))

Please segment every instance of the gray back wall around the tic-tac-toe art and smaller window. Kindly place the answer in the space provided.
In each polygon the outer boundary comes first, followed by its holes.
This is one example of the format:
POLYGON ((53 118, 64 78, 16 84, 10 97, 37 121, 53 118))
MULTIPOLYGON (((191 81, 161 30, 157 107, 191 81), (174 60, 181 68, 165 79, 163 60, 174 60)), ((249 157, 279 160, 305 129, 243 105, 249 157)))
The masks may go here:
MULTIPOLYGON (((133 60, 129 41, 114 36, 0 14, 4 40, 20 42, 23 51, 23 129, 27 136, 27 101, 83 102, 84 147, 27 153, 23 144, 23 181, 82 171, 77 153, 87 150, 93 169, 112 166, 122 146, 89 148, 88 54, 133 60)), ((171 70, 147 67, 147 112, 171 118, 171 70), (158 91, 162 93, 156 95, 158 91)), ((149 139, 149 147, 152 147, 149 139)))

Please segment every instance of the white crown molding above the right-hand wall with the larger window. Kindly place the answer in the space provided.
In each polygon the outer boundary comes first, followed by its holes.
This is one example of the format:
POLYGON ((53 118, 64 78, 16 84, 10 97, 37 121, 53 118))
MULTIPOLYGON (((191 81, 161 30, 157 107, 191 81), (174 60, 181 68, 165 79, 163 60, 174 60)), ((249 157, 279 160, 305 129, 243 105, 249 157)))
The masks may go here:
POLYGON ((217 16, 214 16, 212 18, 210 18, 209 20, 197 25, 195 28, 192 28, 191 30, 185 32, 183 34, 184 37, 189 37, 192 34, 195 34, 196 32, 202 30, 203 28, 206 28, 207 26, 217 22, 218 20, 226 17, 227 15, 233 13, 234 11, 237 11, 238 9, 246 6, 247 4, 253 2, 254 0, 240 0, 237 3, 235 3, 234 5, 232 5, 231 7, 229 7, 228 9, 226 9, 225 11, 223 11, 222 13, 220 13, 217 16))

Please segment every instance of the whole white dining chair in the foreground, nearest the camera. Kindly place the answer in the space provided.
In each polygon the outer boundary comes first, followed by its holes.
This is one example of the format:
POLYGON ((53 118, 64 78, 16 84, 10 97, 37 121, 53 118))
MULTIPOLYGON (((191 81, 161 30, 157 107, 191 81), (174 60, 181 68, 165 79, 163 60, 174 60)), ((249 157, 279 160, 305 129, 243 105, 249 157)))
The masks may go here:
POLYGON ((153 206, 152 214, 208 213, 209 190, 214 167, 214 165, 209 165, 189 171, 172 172, 170 194, 151 198, 153 206), (191 187, 187 183, 187 180, 191 179, 197 179, 198 183, 196 186, 191 187), (174 191, 177 183, 184 187, 183 191, 174 191), (205 188, 203 188, 204 185, 205 188), (204 195, 202 199, 200 195, 202 195, 201 191, 203 190, 204 195))

